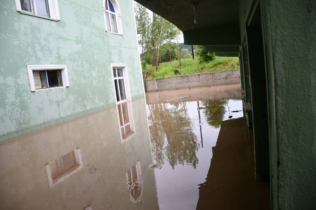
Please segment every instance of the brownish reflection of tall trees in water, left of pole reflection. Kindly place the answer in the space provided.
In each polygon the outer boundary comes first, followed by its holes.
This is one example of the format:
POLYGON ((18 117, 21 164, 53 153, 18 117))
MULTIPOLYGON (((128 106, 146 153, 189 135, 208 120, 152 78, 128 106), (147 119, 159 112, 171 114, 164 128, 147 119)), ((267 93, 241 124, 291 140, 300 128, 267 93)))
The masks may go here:
POLYGON ((149 131, 156 161, 164 163, 164 159, 167 159, 172 168, 178 163, 187 163, 196 168, 196 152, 200 146, 197 137, 194 133, 185 131, 181 133, 185 135, 175 135, 175 132, 182 131, 181 128, 191 125, 185 102, 148 106, 149 131))

